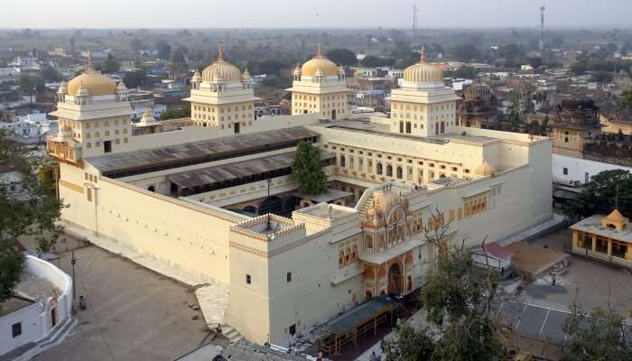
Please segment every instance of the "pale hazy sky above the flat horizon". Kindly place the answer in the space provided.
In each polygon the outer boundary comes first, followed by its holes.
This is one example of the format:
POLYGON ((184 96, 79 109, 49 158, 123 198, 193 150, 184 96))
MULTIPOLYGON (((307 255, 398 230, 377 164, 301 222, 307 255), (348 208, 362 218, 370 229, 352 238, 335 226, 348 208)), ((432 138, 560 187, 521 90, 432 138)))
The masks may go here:
POLYGON ((632 0, 3 0, 5 28, 632 27, 632 0))

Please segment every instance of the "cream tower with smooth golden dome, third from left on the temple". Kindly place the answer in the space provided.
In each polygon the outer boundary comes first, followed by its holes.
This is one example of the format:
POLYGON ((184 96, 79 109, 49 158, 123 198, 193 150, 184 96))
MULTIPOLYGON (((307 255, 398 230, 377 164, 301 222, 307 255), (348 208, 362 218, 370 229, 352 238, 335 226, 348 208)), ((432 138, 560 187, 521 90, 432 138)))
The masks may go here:
POLYGON ((316 113, 332 120, 349 115, 347 77, 318 45, 316 56, 293 71, 292 114, 316 113))

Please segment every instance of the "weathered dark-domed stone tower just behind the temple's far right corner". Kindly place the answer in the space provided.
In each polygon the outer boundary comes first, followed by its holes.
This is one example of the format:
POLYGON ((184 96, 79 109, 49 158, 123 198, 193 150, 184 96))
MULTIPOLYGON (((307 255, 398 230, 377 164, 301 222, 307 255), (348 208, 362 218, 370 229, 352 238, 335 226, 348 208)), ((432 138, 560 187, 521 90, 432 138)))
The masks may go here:
POLYGON ((601 134, 599 106, 590 97, 562 100, 551 125, 553 153, 582 156, 584 146, 601 134))

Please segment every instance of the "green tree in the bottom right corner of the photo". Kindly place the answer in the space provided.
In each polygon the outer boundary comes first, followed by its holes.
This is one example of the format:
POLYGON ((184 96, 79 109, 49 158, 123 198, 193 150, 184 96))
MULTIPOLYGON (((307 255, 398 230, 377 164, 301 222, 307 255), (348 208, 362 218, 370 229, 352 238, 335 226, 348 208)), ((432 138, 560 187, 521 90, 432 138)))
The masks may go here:
POLYGON ((632 347, 623 334, 623 317, 614 310, 590 312, 573 305, 572 316, 564 322, 568 334, 562 361, 632 360, 632 347))

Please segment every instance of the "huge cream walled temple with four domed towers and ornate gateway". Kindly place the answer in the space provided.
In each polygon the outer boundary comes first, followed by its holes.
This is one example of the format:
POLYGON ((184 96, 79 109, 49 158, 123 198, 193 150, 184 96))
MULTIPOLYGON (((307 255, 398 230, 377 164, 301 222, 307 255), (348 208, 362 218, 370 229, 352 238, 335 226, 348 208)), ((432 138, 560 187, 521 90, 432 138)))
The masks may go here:
POLYGON ((286 345, 418 289, 435 252, 424 227, 449 224, 451 239, 475 245, 552 217, 550 139, 458 126, 441 79, 423 54, 392 117, 355 115, 344 71, 320 49, 294 72, 293 116, 255 118, 250 76, 220 50, 192 79, 191 118, 130 124, 125 85, 90 63, 60 87, 60 133, 47 144, 70 205, 62 217, 226 286, 226 324, 286 345), (302 141, 323 151, 322 195, 289 178, 302 141))

